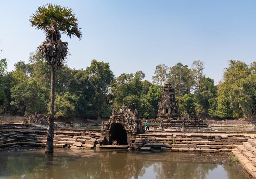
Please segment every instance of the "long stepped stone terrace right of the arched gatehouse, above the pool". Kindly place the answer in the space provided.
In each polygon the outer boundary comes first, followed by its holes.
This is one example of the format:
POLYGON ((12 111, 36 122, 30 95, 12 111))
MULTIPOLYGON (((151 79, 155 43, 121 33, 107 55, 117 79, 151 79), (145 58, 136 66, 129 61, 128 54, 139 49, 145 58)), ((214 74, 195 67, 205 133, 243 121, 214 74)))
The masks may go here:
POLYGON ((177 152, 231 152, 238 145, 247 142, 250 136, 186 133, 148 133, 131 138, 132 147, 137 150, 161 150, 177 152))

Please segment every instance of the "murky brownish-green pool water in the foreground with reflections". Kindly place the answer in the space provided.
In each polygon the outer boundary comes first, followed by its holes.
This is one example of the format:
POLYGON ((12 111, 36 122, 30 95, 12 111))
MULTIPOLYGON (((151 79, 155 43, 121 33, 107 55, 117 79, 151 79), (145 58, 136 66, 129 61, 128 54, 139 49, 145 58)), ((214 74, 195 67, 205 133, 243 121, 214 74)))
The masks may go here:
MULTIPOLYGON (((23 149, 22 149, 23 150, 23 149)), ((0 179, 248 179, 227 154, 108 149, 0 151, 0 179)))

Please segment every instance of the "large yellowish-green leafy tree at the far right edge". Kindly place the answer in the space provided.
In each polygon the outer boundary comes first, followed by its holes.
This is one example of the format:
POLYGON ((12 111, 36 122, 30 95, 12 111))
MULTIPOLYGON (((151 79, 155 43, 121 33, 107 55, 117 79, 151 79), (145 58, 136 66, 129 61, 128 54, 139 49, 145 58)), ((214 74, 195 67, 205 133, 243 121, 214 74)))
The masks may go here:
POLYGON ((250 67, 244 62, 230 60, 218 85, 216 115, 236 118, 252 116, 255 112, 255 62, 250 67))

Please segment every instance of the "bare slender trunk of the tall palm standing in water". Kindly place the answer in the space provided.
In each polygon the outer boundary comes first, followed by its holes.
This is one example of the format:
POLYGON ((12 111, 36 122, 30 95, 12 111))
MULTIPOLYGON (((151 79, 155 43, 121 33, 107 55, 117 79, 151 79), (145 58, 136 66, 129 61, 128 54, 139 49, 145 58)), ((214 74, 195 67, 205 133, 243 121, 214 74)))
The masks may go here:
POLYGON ((53 137, 54 137, 54 101, 55 101, 55 70, 52 69, 52 80, 51 80, 51 106, 50 106, 50 117, 48 120, 47 128, 47 142, 45 147, 45 153, 53 153, 53 137))

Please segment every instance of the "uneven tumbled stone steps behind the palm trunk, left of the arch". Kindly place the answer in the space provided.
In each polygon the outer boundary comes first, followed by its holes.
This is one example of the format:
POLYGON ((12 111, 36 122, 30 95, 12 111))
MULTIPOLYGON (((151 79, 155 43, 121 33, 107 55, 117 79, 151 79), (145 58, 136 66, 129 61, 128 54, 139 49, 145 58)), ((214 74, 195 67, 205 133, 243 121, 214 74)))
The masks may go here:
MULTIPOLYGON (((5 131, 0 135, 0 148, 12 145, 45 146, 45 131, 5 131)), ((54 147, 95 148, 103 145, 100 133, 55 131, 54 147)))

